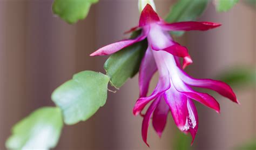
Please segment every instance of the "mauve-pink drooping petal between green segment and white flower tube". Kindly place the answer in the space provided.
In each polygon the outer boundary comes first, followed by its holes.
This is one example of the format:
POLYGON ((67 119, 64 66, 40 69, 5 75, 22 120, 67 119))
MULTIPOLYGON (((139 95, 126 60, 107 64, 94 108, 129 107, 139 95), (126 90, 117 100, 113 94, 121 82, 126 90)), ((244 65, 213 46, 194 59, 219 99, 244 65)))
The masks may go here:
POLYGON ((150 80, 157 71, 156 62, 150 47, 147 48, 139 69, 139 97, 146 97, 149 90, 150 80))

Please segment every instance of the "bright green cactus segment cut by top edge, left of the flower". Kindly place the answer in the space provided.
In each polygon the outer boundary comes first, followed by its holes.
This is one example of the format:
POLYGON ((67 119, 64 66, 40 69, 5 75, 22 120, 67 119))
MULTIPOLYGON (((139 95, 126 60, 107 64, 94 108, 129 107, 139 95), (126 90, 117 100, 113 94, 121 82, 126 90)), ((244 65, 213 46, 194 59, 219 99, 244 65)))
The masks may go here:
POLYGON ((55 0, 52 11, 64 21, 72 24, 84 19, 93 3, 98 0, 55 0))

